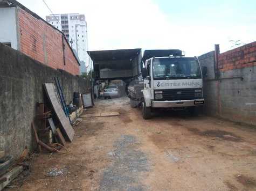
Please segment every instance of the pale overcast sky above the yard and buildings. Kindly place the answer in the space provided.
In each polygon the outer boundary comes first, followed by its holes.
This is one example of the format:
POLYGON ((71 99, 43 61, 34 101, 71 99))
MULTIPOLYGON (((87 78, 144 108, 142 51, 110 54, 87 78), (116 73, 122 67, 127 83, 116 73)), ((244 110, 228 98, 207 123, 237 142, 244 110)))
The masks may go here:
MULTIPOLYGON (((45 19, 43 0, 18 0, 45 19)), ((255 0, 45 0, 54 14, 85 14, 88 49, 181 49, 199 56, 256 41, 255 0)))

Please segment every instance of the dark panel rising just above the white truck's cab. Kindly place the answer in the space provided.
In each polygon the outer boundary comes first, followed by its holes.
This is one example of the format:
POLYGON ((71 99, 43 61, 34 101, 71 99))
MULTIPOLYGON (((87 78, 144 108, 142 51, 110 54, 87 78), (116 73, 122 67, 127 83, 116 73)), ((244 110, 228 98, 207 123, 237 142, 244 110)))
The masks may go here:
POLYGON ((162 50, 145 50, 142 61, 145 62, 151 57, 162 57, 162 56, 170 56, 170 55, 176 55, 181 56, 182 51, 179 49, 162 49, 162 50))

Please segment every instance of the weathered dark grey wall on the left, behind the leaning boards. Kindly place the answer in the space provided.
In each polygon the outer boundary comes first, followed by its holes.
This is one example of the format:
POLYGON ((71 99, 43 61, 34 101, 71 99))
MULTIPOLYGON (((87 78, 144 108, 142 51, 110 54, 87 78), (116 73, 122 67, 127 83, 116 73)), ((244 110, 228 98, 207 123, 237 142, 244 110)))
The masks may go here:
POLYGON ((46 102, 44 83, 60 79, 67 104, 73 92, 85 92, 89 82, 63 70, 55 70, 0 43, 0 150, 19 156, 27 146, 33 149, 31 122, 36 103, 46 102))

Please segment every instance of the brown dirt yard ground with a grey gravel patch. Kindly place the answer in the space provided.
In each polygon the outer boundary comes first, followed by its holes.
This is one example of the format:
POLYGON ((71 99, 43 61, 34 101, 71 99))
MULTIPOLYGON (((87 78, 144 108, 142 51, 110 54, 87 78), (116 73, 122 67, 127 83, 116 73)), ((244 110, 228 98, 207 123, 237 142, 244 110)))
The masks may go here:
POLYGON ((146 121, 128 98, 84 114, 99 111, 120 115, 84 118, 68 153, 34 156, 8 190, 256 190, 255 128, 186 113, 146 121))

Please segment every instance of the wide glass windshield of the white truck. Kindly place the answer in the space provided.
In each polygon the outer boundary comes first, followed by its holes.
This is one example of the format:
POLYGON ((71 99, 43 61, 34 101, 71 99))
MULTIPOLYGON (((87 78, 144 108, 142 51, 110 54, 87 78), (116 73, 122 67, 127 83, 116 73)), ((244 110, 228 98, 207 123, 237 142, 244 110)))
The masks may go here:
POLYGON ((202 78, 199 63, 194 57, 154 58, 154 79, 202 78))

